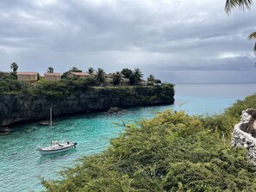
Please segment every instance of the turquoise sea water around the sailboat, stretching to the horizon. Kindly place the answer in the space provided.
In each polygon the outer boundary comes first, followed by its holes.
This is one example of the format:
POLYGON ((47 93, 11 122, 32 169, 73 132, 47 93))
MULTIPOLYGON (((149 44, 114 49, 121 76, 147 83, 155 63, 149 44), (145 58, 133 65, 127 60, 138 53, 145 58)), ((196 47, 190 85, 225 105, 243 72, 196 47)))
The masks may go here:
POLYGON ((70 167, 76 159, 102 152, 109 139, 122 132, 122 122, 133 123, 152 118, 165 109, 184 110, 190 115, 219 114, 237 100, 256 92, 256 84, 177 84, 173 105, 126 108, 122 114, 105 112, 71 115, 53 119, 53 127, 36 122, 13 127, 0 134, 0 192, 40 191, 39 176, 59 178, 57 172, 70 167), (41 157, 38 146, 51 140, 78 142, 77 149, 41 157))

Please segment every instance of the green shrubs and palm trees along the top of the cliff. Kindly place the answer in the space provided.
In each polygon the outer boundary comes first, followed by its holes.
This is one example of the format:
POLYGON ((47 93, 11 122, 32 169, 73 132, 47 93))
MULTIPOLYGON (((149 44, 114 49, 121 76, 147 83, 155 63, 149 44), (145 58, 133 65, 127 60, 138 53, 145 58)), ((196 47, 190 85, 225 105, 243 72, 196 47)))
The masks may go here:
MULTIPOLYGON (((10 69, 10 72, 0 71, 0 95, 31 94, 35 96, 64 97, 70 95, 73 91, 84 91, 91 87, 103 88, 103 86, 98 85, 103 85, 108 80, 103 69, 98 68, 96 71, 92 67, 87 71, 90 77, 69 77, 68 75, 72 72, 82 72, 73 66, 69 71, 63 73, 59 81, 47 81, 38 74, 40 80, 35 81, 34 84, 27 84, 22 80, 17 80, 18 65, 15 62, 10 65, 10 69)), ((53 67, 48 67, 47 73, 53 73, 53 71, 53 67)), ((143 74, 139 68, 135 68, 134 71, 124 68, 122 71, 111 73, 112 85, 120 85, 122 78, 128 78, 128 84, 133 86, 161 84, 161 81, 152 74, 147 77, 147 84, 141 84, 142 77, 143 74)), ((173 88, 173 84, 168 86, 173 88)), ((113 88, 116 89, 116 87, 113 88)), ((118 89, 122 89, 121 86, 118 89)))

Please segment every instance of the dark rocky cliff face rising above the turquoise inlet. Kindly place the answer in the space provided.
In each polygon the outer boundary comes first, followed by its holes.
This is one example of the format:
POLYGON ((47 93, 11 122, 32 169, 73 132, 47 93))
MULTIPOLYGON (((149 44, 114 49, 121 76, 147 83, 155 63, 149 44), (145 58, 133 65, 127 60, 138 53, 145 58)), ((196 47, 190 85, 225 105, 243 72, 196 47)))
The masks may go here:
POLYGON ((53 116, 106 110, 111 107, 133 107, 174 102, 170 87, 95 88, 73 92, 69 96, 26 95, 0 96, 0 127, 20 121, 36 121, 53 116))

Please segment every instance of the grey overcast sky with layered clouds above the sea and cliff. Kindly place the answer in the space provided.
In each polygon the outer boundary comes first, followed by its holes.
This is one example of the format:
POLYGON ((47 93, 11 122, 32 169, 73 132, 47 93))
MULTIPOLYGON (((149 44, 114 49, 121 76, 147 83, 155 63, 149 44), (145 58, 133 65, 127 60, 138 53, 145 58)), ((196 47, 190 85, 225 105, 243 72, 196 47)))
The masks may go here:
POLYGON ((225 0, 0 1, 0 71, 139 67, 171 83, 255 83, 256 11, 225 0))

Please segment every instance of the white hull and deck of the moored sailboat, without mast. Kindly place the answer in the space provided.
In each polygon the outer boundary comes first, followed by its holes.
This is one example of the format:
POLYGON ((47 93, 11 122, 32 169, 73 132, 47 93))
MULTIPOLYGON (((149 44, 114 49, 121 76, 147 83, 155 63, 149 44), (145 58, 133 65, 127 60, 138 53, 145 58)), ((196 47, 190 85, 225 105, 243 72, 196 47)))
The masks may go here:
POLYGON ((41 153, 41 155, 50 155, 58 152, 66 152, 72 148, 76 148, 78 144, 73 143, 71 141, 66 141, 66 143, 59 143, 59 141, 51 141, 51 146, 37 148, 37 151, 41 153))

